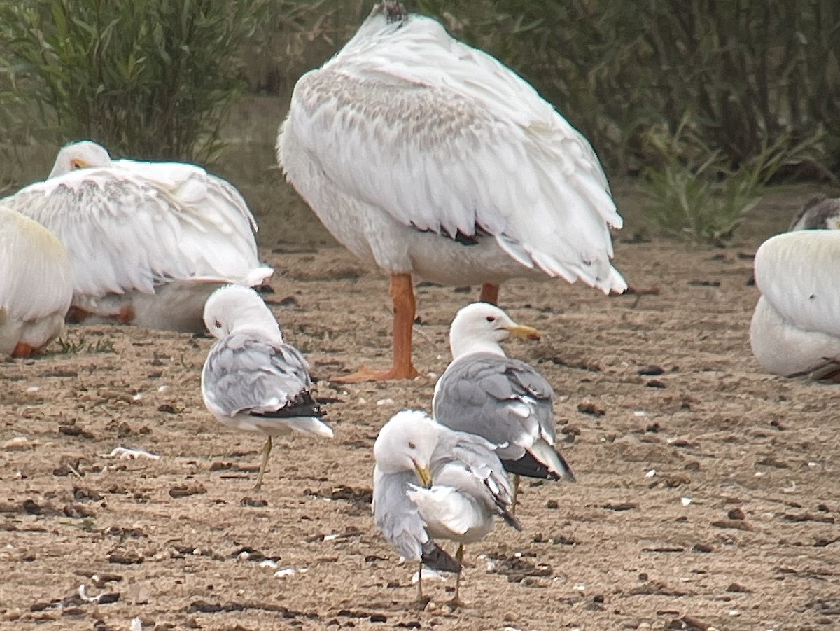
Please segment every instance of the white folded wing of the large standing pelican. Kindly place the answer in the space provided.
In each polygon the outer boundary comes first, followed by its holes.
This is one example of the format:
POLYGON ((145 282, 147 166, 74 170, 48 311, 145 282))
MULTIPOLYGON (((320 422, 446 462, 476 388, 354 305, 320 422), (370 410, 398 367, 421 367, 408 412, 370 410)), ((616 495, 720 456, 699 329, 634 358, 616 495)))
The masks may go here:
POLYGON ((405 225, 483 231, 550 276, 626 287, 610 265, 609 228, 622 219, 591 145, 521 77, 431 19, 357 37, 303 76, 282 133, 332 186, 405 225))

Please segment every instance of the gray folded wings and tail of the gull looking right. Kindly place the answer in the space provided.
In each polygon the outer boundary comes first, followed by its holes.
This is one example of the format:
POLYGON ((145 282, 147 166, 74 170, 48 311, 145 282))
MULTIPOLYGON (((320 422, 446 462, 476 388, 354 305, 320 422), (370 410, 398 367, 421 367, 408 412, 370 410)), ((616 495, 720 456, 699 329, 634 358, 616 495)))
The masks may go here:
POLYGON ((552 395, 549 382, 525 362, 475 353, 452 362, 438 380, 434 418, 498 445, 507 471, 573 480, 554 449, 552 395))

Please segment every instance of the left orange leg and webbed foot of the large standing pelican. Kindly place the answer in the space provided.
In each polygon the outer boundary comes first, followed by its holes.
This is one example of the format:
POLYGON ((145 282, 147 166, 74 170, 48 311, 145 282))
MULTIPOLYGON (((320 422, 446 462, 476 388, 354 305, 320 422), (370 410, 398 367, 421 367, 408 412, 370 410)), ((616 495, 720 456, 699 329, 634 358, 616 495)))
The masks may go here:
POLYGON ((394 364, 388 371, 361 368, 352 375, 335 377, 331 381, 386 381, 413 379, 419 373, 412 364, 412 328, 414 326, 414 285, 411 274, 391 274, 391 300, 394 302, 394 364))

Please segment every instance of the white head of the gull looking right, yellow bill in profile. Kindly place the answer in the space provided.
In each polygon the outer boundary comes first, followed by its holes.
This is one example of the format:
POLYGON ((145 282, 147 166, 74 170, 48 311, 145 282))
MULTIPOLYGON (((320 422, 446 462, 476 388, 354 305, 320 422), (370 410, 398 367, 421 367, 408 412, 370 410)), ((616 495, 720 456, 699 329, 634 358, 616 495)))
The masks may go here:
POLYGON ((500 308, 488 302, 473 302, 455 315, 449 327, 449 349, 454 360, 470 353, 504 355, 499 343, 508 335, 539 339, 537 329, 515 323, 500 308))

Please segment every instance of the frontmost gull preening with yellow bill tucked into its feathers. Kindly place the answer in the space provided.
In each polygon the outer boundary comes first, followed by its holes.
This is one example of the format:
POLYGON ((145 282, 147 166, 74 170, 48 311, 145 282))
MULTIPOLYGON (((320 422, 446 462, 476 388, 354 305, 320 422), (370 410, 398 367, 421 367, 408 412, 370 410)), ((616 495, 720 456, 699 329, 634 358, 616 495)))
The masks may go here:
POLYGON ((373 453, 376 528, 400 555, 420 564, 419 598, 423 564, 458 572, 458 604, 464 545, 484 539, 496 515, 521 529, 510 512, 510 483, 493 446, 445 428, 423 412, 403 410, 382 427, 373 453), (454 560, 435 538, 458 542, 454 560))

